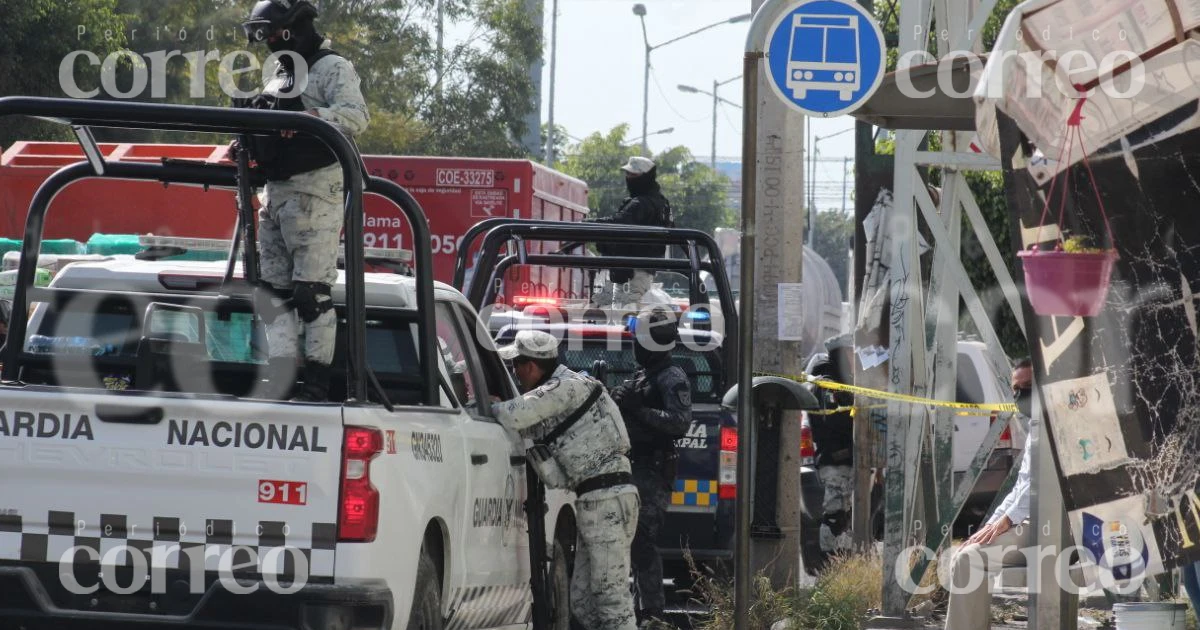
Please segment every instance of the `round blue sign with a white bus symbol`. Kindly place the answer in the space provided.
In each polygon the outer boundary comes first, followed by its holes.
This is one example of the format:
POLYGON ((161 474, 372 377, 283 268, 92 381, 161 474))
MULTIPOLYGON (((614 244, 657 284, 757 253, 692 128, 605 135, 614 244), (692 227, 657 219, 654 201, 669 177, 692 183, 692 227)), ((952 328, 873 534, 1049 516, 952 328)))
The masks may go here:
POLYGON ((772 90, 809 116, 858 109, 887 67, 883 31, 851 0, 799 0, 775 19, 763 49, 772 90))

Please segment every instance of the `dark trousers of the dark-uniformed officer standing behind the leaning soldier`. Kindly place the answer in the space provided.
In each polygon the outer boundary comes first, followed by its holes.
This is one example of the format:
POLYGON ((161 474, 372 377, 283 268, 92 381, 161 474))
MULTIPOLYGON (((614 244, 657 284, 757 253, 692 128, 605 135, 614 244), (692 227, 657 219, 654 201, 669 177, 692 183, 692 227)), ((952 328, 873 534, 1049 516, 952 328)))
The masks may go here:
POLYGON ((660 612, 666 606, 662 592, 662 557, 659 556, 659 529, 671 503, 670 487, 662 480, 658 464, 634 466, 634 482, 642 499, 637 512, 637 534, 634 536, 634 587, 638 612, 660 612))

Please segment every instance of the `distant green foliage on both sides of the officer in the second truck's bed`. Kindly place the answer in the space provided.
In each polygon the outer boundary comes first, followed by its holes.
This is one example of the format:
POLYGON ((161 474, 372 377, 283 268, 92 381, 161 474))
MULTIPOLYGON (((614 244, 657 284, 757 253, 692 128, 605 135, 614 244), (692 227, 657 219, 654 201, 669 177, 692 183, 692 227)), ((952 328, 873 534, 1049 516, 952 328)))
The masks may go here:
MULTIPOLYGON (((564 173, 588 182, 588 205, 595 216, 612 215, 629 194, 620 166, 629 156, 640 155, 641 149, 625 139, 626 133, 629 125, 613 127, 607 134, 593 133, 558 164, 564 173)), ((653 160, 676 226, 712 233, 734 223, 726 198, 728 178, 696 162, 684 146, 667 149, 653 160)))

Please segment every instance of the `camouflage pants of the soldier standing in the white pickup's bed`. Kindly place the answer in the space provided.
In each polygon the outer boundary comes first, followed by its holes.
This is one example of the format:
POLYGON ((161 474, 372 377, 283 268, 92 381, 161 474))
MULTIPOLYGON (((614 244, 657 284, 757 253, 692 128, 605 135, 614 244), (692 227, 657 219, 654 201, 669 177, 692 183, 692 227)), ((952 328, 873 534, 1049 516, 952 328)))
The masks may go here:
MULTIPOLYGON (((342 232, 342 172, 335 164, 268 182, 258 211, 258 256, 262 277, 276 289, 293 283, 337 282, 337 245, 342 232)), ((334 361, 337 316, 322 313, 301 322, 295 311, 266 326, 271 358, 296 356, 301 329, 306 360, 334 361)))

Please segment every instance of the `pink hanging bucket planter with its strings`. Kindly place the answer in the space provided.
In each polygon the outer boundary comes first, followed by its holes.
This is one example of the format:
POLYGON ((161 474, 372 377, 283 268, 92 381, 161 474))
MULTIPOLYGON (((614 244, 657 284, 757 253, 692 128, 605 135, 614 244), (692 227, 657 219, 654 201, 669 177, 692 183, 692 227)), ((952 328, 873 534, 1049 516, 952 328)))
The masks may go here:
MULTIPOLYGON (((1067 142, 1063 149, 1067 151, 1067 161, 1062 162, 1062 152, 1058 155, 1060 163, 1067 164, 1063 169, 1063 179, 1070 181, 1070 157, 1074 151, 1073 140, 1079 140, 1079 148, 1084 152, 1084 166, 1092 180, 1092 191, 1096 193, 1096 203, 1099 205, 1100 216, 1104 217, 1104 228, 1109 235, 1109 247, 1094 250, 1075 246, 1073 242, 1064 242, 1062 234, 1062 217, 1067 208, 1067 194, 1069 188, 1063 184, 1062 205, 1058 209, 1060 236, 1054 250, 1042 251, 1037 245, 1016 253, 1025 268, 1025 289, 1030 298, 1030 306, 1039 316, 1058 317, 1093 317, 1104 308, 1104 302, 1109 295, 1109 286, 1112 281, 1112 264, 1117 260, 1115 241, 1112 240, 1112 228, 1109 226, 1109 215, 1104 211, 1104 200, 1100 198, 1099 187, 1096 185, 1096 175, 1087 160, 1087 149, 1084 146, 1082 133, 1079 127, 1082 121, 1084 103, 1086 97, 1080 97, 1075 103, 1075 110, 1067 120, 1067 142)), ((1042 210, 1039 226, 1045 224, 1046 212, 1054 198, 1057 178, 1050 182, 1050 191, 1046 194, 1045 208, 1042 210)), ((1070 239, 1074 241, 1076 239, 1070 239)), ((1040 235, 1038 236, 1040 241, 1040 235)))

